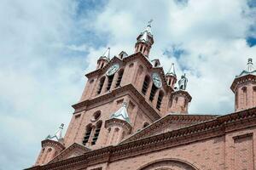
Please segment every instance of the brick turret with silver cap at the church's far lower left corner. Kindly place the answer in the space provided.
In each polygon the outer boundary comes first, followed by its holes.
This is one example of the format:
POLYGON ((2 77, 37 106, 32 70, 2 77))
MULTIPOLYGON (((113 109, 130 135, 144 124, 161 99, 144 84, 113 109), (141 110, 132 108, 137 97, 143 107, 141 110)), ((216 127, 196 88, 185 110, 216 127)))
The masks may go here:
POLYGON ((35 165, 44 165, 48 163, 65 149, 61 134, 63 127, 64 124, 62 123, 54 135, 48 135, 46 139, 42 141, 42 149, 35 165))

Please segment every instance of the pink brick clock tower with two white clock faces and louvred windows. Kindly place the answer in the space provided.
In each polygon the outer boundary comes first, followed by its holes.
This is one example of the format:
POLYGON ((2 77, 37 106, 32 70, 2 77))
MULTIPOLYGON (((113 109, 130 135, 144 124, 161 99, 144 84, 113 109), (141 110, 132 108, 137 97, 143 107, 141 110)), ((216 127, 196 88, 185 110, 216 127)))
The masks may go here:
POLYGON ((111 56, 108 48, 97 59, 96 70, 85 74, 87 82, 79 102, 73 105, 73 116, 64 139, 42 142, 44 148, 51 147, 55 152, 49 152, 53 155, 47 155, 45 161, 40 154, 38 165, 49 162, 61 150, 74 147, 73 144, 83 150, 119 144, 170 111, 187 113, 191 100, 185 91, 187 79, 183 77, 179 81, 180 89, 175 91, 174 65, 165 74, 159 59, 149 59, 154 43, 151 22, 137 37, 134 54, 122 51, 111 56), (176 97, 178 102, 169 105, 176 97))

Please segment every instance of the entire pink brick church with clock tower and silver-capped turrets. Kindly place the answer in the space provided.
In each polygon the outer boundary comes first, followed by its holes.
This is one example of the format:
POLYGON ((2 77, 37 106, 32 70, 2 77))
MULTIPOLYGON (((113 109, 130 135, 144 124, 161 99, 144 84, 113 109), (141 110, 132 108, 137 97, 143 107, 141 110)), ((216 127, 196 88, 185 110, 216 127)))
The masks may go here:
MULTIPOLYGON (((97 59, 64 137, 44 139, 30 170, 255 170, 256 70, 248 59, 230 88, 235 111, 189 115, 188 78, 150 59, 151 24, 134 54, 97 59)), ((232 76, 232 75, 231 75, 232 76)), ((227 87, 228 90, 228 87, 227 87)))

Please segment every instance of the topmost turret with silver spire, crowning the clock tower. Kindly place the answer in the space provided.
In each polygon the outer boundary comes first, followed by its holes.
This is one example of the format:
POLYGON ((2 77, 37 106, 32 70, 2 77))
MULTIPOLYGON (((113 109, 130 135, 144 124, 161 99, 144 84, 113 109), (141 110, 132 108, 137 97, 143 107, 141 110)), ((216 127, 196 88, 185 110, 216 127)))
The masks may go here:
POLYGON ((146 57, 148 57, 150 48, 154 43, 154 38, 151 33, 151 22, 153 20, 148 21, 148 26, 146 29, 141 32, 141 34, 137 37, 137 42, 135 44, 135 53, 141 52, 146 57))

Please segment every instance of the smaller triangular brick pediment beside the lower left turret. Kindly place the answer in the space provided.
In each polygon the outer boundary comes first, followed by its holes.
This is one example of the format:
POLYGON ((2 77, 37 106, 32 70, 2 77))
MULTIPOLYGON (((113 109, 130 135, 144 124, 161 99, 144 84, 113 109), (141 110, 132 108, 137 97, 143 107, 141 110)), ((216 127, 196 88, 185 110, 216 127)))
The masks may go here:
POLYGON ((55 158, 53 158, 49 162, 62 161, 70 157, 81 156, 88 151, 90 151, 90 149, 85 147, 84 145, 73 143, 67 149, 61 151, 59 155, 55 156, 55 158))

